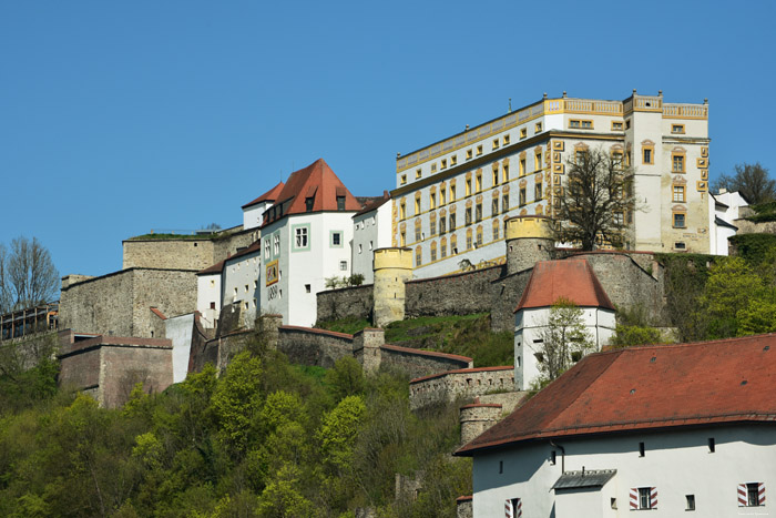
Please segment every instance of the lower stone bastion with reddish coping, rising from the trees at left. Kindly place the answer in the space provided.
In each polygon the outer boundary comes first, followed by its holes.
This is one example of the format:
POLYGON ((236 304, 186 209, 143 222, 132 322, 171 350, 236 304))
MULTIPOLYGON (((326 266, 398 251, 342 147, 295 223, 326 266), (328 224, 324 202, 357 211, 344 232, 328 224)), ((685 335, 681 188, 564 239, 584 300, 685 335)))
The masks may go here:
POLYGON ((159 338, 62 335, 60 386, 95 397, 100 406, 123 405, 137 383, 157 393, 173 383, 172 344, 159 338))

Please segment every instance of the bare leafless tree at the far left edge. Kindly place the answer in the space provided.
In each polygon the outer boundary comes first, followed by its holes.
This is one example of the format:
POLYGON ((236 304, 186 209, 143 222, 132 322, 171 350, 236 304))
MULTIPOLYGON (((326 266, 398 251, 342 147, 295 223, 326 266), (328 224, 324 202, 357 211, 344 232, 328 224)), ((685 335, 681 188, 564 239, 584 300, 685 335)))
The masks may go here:
POLYGON ((51 254, 38 238, 17 237, 10 251, 0 243, 0 313, 52 301, 58 283, 51 254))

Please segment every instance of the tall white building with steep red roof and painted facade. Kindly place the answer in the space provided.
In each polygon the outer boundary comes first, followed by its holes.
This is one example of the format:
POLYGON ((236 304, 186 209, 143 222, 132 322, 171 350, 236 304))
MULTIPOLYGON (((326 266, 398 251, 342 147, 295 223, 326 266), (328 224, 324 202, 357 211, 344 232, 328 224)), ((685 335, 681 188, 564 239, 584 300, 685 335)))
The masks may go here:
POLYGON ((324 160, 292 173, 264 213, 261 308, 313 325, 325 280, 350 276, 353 215, 361 204, 324 160))

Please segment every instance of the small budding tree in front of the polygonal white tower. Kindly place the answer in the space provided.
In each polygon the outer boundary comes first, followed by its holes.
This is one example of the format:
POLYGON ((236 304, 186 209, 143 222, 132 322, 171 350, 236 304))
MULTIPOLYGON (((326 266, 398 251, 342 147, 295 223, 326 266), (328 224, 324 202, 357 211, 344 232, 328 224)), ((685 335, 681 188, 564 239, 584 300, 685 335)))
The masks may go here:
POLYGON ((539 370, 543 380, 552 382, 568 370, 572 362, 594 348, 582 309, 568 298, 558 298, 550 309, 538 351, 542 356, 539 370))

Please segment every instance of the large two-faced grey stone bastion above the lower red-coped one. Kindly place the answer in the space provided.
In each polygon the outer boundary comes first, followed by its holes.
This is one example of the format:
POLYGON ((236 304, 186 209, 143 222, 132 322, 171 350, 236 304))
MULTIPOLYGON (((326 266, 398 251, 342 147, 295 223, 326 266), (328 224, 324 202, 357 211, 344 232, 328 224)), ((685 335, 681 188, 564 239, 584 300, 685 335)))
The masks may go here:
POLYGON ((109 336, 160 336, 151 311, 177 316, 196 309, 194 271, 132 268, 62 287, 60 327, 109 336))

